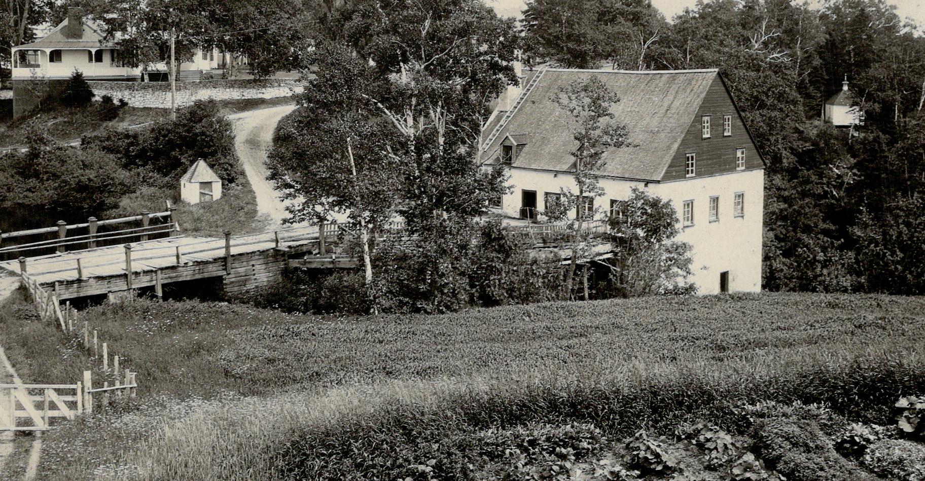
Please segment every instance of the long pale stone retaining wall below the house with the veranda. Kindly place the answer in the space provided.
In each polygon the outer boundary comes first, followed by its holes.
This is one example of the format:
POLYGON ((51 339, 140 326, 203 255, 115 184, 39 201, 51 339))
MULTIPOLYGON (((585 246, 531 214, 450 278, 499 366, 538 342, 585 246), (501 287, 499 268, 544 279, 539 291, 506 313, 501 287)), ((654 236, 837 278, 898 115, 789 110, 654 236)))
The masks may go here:
MULTIPOLYGON (((109 95, 113 100, 125 99, 136 107, 170 108, 169 82, 97 81, 87 83, 96 93, 93 100, 109 95)), ((177 106, 191 105, 197 100, 269 99, 302 93, 298 80, 203 80, 177 82, 177 106)))

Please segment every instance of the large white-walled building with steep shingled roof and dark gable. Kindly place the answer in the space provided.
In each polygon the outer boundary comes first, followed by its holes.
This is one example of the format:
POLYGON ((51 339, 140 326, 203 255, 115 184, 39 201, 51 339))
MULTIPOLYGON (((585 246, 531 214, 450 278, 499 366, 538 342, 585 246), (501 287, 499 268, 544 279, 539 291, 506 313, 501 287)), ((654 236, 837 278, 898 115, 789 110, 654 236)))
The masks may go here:
POLYGON ((693 248, 699 293, 761 290, 764 161, 716 69, 530 72, 485 129, 483 162, 504 166, 512 187, 496 207, 541 221, 561 188, 577 192, 573 123, 552 97, 592 76, 619 95, 611 112, 626 126, 627 145, 604 154, 598 179, 605 194, 587 198, 572 216, 595 207, 608 216, 634 187, 657 195, 678 213, 676 240, 693 248))

